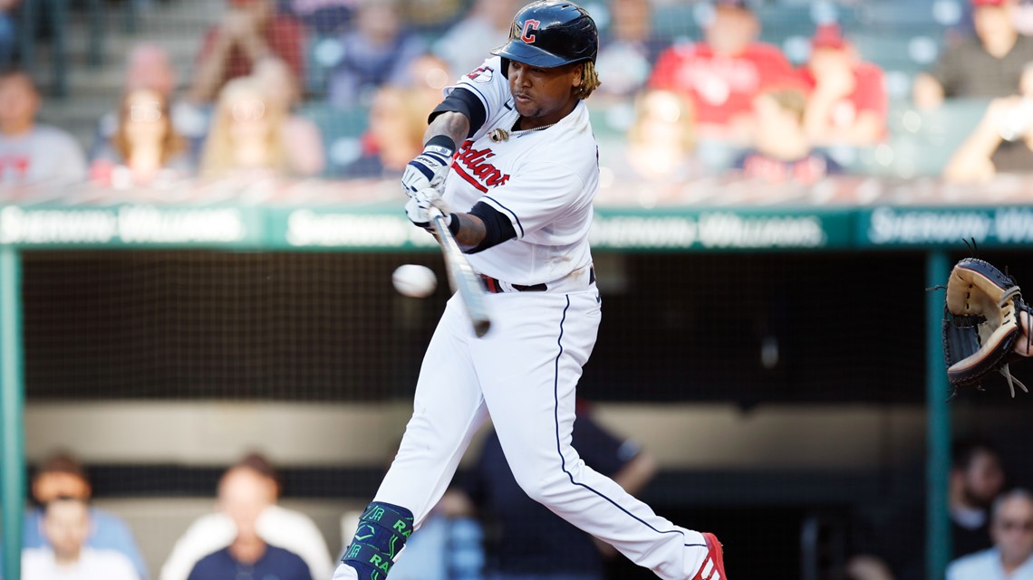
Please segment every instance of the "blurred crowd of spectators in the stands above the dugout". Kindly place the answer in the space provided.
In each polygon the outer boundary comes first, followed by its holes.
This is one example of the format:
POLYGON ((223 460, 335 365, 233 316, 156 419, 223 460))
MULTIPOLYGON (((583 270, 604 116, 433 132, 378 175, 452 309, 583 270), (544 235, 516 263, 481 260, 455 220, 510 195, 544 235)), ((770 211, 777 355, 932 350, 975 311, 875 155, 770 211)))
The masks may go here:
MULTIPOLYGON (((602 32, 589 104, 604 186, 982 182, 1033 159, 1025 0, 586 5, 602 32)), ((520 6, 4 0, 0 182, 393 179, 520 6)))

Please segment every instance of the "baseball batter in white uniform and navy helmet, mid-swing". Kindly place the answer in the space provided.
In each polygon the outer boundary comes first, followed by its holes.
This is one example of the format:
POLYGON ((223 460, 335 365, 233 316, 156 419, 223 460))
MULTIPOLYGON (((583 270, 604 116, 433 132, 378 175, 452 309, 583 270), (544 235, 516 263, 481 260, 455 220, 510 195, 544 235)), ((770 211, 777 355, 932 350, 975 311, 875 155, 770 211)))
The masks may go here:
POLYGON ((714 535, 657 516, 570 446, 574 389, 601 316, 588 244, 598 152, 582 102, 599 86, 597 52, 587 11, 533 2, 431 116, 426 149, 402 178, 406 212, 422 227, 432 206, 447 216, 483 279, 492 329, 476 337, 458 296, 448 301, 398 455, 335 579, 384 578, 489 414, 529 496, 661 578, 725 578, 714 535))

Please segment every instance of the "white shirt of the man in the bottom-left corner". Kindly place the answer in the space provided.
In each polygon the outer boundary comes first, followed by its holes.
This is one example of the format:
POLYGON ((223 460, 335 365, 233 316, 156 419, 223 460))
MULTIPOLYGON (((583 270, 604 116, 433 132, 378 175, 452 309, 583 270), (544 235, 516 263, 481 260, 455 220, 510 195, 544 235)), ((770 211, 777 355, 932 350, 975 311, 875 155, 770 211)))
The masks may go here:
POLYGON ((22 580, 139 580, 129 558, 115 550, 83 548, 79 561, 59 566, 51 548, 22 550, 22 580))

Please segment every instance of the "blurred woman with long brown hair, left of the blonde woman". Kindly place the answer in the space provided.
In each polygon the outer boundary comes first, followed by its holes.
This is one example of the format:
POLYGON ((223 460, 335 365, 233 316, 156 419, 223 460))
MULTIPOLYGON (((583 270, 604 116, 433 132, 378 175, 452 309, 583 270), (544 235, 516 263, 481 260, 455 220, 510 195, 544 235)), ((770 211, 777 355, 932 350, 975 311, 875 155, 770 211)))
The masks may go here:
POLYGON ((167 186, 191 173, 186 143, 173 127, 168 101, 151 89, 122 97, 118 127, 90 167, 91 178, 108 187, 167 186))

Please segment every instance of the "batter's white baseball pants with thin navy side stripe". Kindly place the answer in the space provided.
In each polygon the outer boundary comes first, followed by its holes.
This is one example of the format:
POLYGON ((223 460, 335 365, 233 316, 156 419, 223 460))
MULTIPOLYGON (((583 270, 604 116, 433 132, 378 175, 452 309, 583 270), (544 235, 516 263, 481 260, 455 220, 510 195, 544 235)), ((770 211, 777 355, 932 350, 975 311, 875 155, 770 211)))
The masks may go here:
POLYGON ((424 358, 412 418, 375 501, 408 508, 418 527, 491 414, 528 495, 660 578, 691 578, 707 553, 702 537, 654 514, 570 446, 575 388, 601 318, 594 285, 486 300, 492 330, 482 339, 460 298, 448 300, 424 358))

